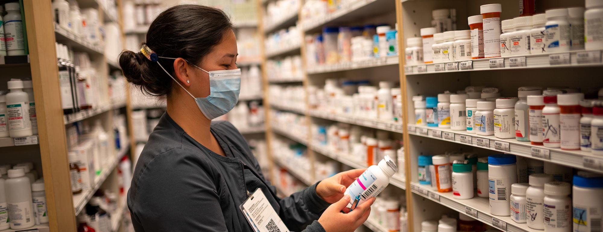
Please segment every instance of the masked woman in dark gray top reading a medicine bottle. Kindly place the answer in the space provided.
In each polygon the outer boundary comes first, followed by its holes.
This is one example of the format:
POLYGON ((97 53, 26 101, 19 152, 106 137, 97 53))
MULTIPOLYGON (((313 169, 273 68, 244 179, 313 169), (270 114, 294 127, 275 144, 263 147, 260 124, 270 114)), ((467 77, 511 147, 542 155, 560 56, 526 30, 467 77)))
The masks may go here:
POLYGON ((134 169, 128 192, 134 229, 253 231, 239 205, 259 188, 289 230, 355 230, 374 199, 342 213, 350 199, 343 193, 364 170, 341 172, 280 199, 236 128, 211 121, 238 101, 236 55, 229 18, 201 5, 163 11, 141 51, 120 55, 130 83, 168 102, 134 169))

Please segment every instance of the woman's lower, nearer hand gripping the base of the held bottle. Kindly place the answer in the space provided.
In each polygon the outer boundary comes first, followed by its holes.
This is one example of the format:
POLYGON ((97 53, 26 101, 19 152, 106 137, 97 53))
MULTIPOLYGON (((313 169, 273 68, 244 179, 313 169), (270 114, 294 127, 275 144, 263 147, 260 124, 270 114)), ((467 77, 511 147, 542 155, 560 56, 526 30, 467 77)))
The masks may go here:
POLYGON ((361 205, 358 205, 352 212, 341 213, 342 211, 349 211, 347 204, 350 202, 350 196, 346 195, 324 210, 318 222, 323 226, 324 231, 327 232, 355 231, 364 221, 367 221, 368 215, 371 213, 371 205, 374 201, 375 198, 370 198, 361 205))

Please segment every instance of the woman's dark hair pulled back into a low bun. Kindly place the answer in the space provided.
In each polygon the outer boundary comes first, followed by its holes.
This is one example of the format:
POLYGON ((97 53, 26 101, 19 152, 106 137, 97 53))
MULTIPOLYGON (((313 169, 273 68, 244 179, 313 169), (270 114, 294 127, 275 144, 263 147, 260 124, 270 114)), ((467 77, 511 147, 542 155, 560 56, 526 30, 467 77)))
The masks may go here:
MULTIPOLYGON (((232 28, 229 16, 222 10, 203 5, 177 5, 153 20, 146 45, 160 57, 181 57, 198 64, 232 28)), ((170 74, 174 73, 174 60, 159 58, 158 62, 170 74)), ((144 93, 165 96, 171 92, 172 78, 140 51, 122 51, 119 66, 127 80, 140 86, 144 93)))

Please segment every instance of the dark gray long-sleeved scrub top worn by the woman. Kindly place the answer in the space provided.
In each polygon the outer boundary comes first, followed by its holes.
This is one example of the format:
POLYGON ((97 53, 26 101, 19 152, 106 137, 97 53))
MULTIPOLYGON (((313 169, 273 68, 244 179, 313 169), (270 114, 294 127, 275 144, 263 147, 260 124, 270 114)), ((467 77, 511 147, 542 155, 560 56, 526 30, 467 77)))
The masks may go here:
POLYGON ((286 198, 264 178, 245 139, 232 124, 212 122, 226 152, 192 139, 167 113, 149 136, 134 168, 128 208, 136 232, 253 231, 239 205, 261 188, 292 231, 324 231, 317 220, 329 206, 314 184, 286 198))

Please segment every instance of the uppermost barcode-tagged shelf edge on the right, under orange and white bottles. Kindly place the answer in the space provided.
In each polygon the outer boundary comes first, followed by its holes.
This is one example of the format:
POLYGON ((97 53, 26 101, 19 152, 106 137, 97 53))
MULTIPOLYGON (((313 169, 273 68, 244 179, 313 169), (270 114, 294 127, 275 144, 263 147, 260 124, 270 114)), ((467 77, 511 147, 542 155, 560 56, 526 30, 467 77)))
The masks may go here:
POLYGON ((592 66, 603 66, 601 61, 601 50, 579 50, 579 51, 569 51, 569 52, 554 52, 554 53, 545 53, 545 54, 530 54, 530 55, 514 55, 509 57, 495 57, 495 58, 481 58, 475 60, 459 60, 459 61, 451 61, 451 62, 438 62, 438 63, 429 63, 429 64, 409 64, 404 66, 406 75, 418 75, 418 74, 440 74, 440 73, 448 73, 448 72, 470 72, 470 71, 484 71, 484 70, 507 70, 507 69, 533 69, 533 68, 551 68, 551 67, 592 67, 592 66), (569 64, 551 64, 549 62, 549 56, 555 56, 560 54, 569 54, 570 63, 569 64), (584 55, 589 54, 590 57, 595 55, 595 58, 590 58, 590 60, 579 60, 578 54, 584 55), (598 57, 598 58, 597 58, 598 57), (519 62, 519 66, 511 66, 511 59, 514 60, 523 60, 525 58, 525 63, 519 62), (495 67, 490 68, 490 60, 504 60, 504 67, 495 67), (467 70, 460 70, 461 62, 471 61, 472 68, 467 70), (458 64, 459 70, 450 70, 450 71, 435 71, 436 66, 446 67, 447 65, 455 66, 454 63, 458 64))

